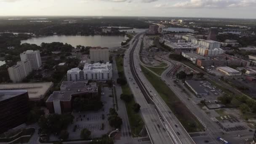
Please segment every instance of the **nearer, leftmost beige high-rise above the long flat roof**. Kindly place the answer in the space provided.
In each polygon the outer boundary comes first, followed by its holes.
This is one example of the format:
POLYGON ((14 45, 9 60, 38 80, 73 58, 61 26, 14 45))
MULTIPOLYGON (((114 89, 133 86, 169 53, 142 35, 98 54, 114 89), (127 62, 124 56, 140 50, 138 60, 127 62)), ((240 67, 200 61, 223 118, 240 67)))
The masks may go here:
POLYGON ((32 72, 29 61, 18 61, 16 65, 8 68, 10 79, 13 83, 20 82, 32 72))

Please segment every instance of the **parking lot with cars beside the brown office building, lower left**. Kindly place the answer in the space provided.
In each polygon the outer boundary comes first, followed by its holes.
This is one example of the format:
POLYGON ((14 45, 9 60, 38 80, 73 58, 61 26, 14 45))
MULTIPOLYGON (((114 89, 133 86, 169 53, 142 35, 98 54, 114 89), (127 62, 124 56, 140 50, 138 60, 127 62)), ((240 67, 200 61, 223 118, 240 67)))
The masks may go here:
POLYGON ((80 139, 80 132, 83 128, 91 131, 92 138, 101 137, 112 131, 113 128, 109 126, 107 120, 109 108, 114 106, 113 97, 109 97, 109 95, 112 95, 112 89, 104 87, 101 92, 101 101, 104 104, 102 109, 97 112, 72 112, 75 119, 74 123, 68 127, 69 139, 80 139))

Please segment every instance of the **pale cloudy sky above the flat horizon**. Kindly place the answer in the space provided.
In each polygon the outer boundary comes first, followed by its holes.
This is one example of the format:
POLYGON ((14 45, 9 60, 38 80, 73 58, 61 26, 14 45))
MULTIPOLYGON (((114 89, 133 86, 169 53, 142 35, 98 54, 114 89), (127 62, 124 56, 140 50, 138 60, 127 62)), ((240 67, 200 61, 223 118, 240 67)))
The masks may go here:
POLYGON ((0 16, 166 16, 256 19, 256 0, 0 0, 0 16))

